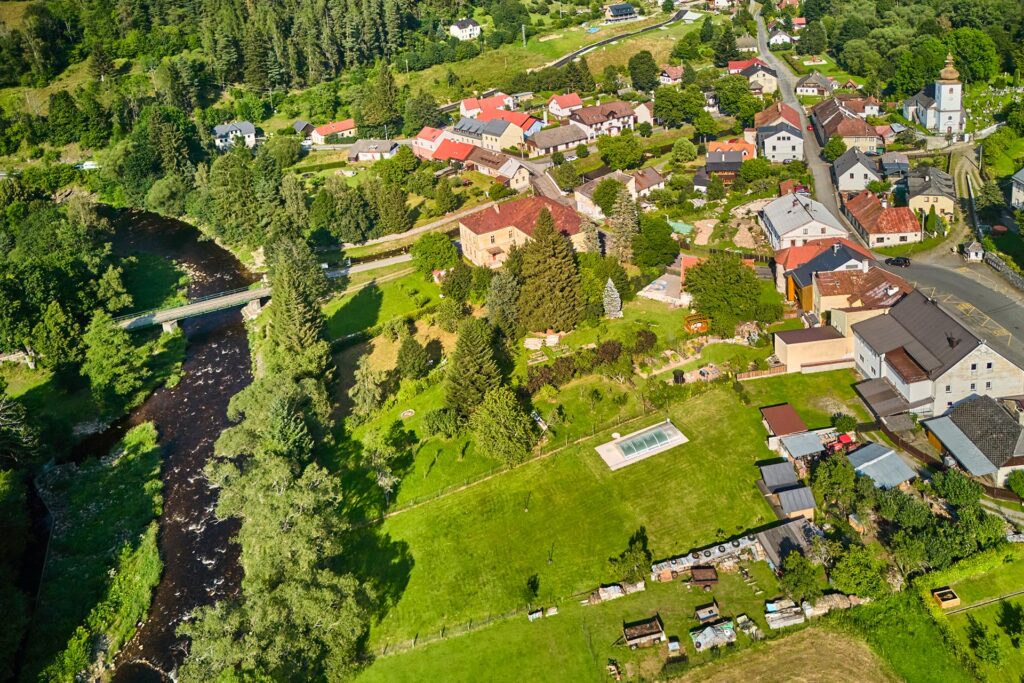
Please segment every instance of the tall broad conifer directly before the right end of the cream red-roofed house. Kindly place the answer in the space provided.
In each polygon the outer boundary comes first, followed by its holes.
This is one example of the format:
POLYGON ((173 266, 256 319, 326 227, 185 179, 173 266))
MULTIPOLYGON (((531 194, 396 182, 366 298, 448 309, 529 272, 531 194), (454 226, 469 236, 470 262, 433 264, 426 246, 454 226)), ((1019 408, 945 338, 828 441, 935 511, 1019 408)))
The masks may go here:
POLYGON ((523 248, 519 318, 527 330, 568 332, 580 321, 580 273, 572 245, 544 209, 523 248))

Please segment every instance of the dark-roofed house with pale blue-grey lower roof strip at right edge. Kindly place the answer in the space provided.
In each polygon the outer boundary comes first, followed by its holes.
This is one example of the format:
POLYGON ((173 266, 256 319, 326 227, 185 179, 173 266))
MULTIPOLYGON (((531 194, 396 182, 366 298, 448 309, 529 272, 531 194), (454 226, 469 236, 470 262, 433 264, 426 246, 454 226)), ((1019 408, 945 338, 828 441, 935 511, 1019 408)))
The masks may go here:
POLYGON ((928 440, 976 477, 1005 486, 1024 469, 1024 426, 991 396, 971 396, 924 423, 928 440))

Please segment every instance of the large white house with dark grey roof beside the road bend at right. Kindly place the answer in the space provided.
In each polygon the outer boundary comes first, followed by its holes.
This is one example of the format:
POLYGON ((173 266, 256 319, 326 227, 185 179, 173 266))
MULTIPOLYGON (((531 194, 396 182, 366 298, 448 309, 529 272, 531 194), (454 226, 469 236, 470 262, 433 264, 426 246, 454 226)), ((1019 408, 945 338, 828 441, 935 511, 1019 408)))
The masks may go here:
POLYGON ((852 326, 857 392, 880 418, 941 415, 965 398, 1024 393, 1024 371, 914 290, 852 326))

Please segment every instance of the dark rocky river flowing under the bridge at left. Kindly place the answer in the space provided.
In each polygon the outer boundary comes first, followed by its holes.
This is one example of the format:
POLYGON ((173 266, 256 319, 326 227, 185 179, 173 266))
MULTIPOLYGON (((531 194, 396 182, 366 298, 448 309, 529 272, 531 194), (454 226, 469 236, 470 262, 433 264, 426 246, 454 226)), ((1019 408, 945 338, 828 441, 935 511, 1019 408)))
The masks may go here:
MULTIPOLYGON (((255 278, 226 250, 186 223, 150 213, 117 219, 115 251, 173 258, 191 276, 189 297, 245 287, 255 278)), ((216 492, 203 468, 227 427, 227 402, 251 381, 249 341, 240 310, 184 321, 188 340, 181 381, 158 389, 125 420, 88 440, 93 455, 129 427, 153 422, 164 452, 160 555, 164 572, 150 613, 116 659, 118 682, 168 680, 184 658, 175 630, 196 607, 236 595, 242 580, 234 520, 214 516, 216 492)))

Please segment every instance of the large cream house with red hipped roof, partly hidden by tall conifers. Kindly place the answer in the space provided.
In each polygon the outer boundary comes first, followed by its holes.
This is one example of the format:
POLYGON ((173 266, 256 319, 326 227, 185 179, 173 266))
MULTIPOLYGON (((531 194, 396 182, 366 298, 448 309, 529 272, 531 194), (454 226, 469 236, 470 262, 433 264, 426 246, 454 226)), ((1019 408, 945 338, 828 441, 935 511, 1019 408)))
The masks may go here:
POLYGON ((529 241, 544 209, 551 212, 555 228, 569 237, 577 251, 583 251, 582 221, 575 211, 546 197, 524 197, 460 219, 459 241, 463 255, 475 265, 500 266, 513 245, 521 247, 529 241))

